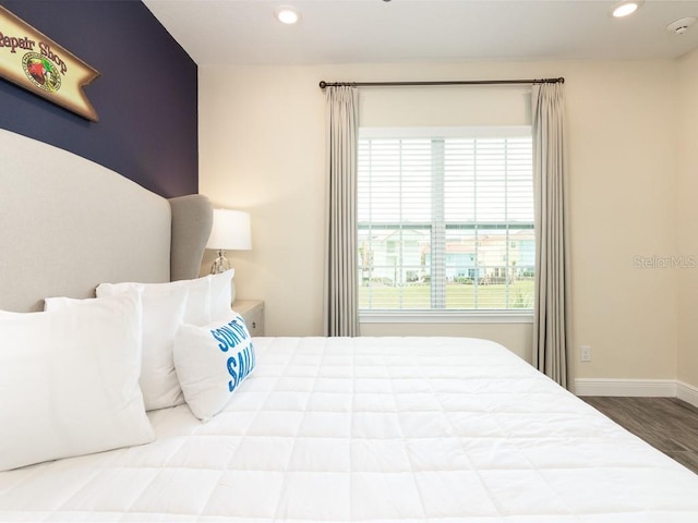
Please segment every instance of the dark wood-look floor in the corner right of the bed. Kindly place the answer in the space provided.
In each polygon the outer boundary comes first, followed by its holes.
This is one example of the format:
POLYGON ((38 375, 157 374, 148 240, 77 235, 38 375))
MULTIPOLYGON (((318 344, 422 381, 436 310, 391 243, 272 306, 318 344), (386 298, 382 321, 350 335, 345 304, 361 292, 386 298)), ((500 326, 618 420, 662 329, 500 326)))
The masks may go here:
POLYGON ((698 474, 698 409, 695 406, 675 398, 581 399, 698 474))

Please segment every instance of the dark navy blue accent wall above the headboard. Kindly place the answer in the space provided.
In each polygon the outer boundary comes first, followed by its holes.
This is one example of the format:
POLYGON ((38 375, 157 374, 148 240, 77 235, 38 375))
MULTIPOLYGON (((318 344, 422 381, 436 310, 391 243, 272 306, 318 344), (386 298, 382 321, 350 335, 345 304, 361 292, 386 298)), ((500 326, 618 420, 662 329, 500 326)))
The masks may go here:
POLYGON ((0 4, 101 73, 85 87, 96 123, 0 78, 0 127, 166 197, 198 191, 197 68, 141 0, 0 4))

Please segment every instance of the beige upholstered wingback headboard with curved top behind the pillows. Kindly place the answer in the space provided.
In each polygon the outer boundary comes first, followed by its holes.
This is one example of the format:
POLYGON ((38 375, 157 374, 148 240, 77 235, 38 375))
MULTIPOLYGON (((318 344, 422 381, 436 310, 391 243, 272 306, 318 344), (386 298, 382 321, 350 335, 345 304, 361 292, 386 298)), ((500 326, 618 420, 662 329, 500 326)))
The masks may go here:
POLYGON ((0 309, 88 297, 103 282, 196 278, 205 196, 163 198, 65 150, 0 130, 0 309))

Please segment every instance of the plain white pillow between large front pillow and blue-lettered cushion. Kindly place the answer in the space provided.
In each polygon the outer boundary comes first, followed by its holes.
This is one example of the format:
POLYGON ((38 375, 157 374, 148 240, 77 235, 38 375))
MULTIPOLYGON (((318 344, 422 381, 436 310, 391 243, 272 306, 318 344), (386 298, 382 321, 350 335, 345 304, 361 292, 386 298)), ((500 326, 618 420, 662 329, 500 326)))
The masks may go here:
MULTIPOLYGON (((189 288, 176 283, 101 283, 97 287, 97 297, 133 290, 142 293, 143 368, 140 382, 147 411, 184 403, 174 372, 172 346, 184 318, 189 288)), ((47 306, 50 306, 48 300, 47 306)))

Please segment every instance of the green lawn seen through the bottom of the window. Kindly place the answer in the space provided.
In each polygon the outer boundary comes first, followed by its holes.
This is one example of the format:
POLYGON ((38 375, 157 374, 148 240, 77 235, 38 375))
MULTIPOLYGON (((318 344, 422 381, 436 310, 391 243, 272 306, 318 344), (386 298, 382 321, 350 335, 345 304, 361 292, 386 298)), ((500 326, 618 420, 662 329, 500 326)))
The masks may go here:
MULTIPOLYGON (((375 284, 359 288, 359 307, 430 308, 431 285, 405 287, 375 284)), ((446 308, 533 308, 533 281, 519 280, 508 285, 446 284, 446 308)))

